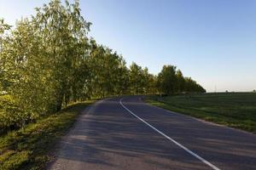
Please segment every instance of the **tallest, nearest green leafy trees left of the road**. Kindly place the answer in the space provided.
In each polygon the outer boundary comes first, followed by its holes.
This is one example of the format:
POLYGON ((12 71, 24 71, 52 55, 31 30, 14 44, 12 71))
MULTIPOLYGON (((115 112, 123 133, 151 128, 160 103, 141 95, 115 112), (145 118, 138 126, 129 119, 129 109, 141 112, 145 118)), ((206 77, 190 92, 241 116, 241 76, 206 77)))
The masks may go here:
POLYGON ((9 126, 24 126, 79 98, 87 71, 84 58, 89 26, 80 16, 79 3, 64 7, 53 0, 37 8, 32 19, 20 20, 5 37, 1 82, 13 100, 12 107, 2 107, 4 116, 15 117, 9 126))

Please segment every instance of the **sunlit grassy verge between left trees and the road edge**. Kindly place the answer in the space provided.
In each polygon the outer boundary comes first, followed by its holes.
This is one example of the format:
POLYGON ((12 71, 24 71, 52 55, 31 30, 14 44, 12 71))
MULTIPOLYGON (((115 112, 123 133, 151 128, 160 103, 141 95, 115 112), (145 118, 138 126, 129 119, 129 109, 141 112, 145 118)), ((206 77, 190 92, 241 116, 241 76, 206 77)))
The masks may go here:
POLYGON ((49 151, 75 118, 93 101, 70 105, 24 129, 0 137, 0 170, 42 169, 50 161, 49 151))

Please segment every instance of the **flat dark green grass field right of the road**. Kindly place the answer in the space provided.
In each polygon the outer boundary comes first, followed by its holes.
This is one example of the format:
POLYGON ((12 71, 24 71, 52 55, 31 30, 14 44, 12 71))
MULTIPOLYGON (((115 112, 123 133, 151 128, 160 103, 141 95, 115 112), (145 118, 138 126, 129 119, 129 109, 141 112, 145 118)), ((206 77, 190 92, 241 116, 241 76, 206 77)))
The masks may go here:
POLYGON ((256 133, 256 93, 150 96, 146 101, 170 111, 256 133))

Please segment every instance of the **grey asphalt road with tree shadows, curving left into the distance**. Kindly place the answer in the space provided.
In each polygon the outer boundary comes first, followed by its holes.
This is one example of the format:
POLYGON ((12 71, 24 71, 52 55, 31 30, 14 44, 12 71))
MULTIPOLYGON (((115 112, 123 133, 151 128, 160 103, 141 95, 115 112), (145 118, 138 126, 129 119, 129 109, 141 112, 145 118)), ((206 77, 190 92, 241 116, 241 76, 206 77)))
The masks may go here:
POLYGON ((256 135, 144 104, 139 96, 87 108, 49 169, 256 169, 256 135))

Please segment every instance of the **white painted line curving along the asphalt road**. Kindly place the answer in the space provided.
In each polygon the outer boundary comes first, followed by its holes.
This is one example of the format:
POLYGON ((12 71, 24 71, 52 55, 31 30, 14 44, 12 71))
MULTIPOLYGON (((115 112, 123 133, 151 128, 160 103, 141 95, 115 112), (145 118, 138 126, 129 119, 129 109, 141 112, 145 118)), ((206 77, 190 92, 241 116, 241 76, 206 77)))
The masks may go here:
POLYGON ((123 106, 123 108, 126 111, 129 111, 131 113, 131 115, 136 116, 137 119, 139 119, 140 121, 144 122, 146 125, 148 125, 148 127, 151 127, 154 129, 154 131, 156 131, 157 133, 160 133, 161 135, 163 135, 164 137, 166 137, 166 139, 171 140, 174 144, 177 144, 177 146, 181 147, 183 150, 189 152, 190 155, 195 156, 197 159, 199 159, 200 161, 204 162, 205 164, 207 164, 207 166, 212 167, 212 169, 214 170, 220 170, 218 167, 212 165, 212 163, 210 163, 209 161, 205 160, 204 158, 202 158, 201 156, 198 156, 197 154, 195 154, 193 151, 189 150, 188 148, 186 148, 185 146, 183 146, 183 144, 179 144, 176 140, 170 138, 169 136, 167 136, 165 133, 162 133, 160 130, 158 130, 157 128, 153 127, 152 125, 150 125, 148 122, 144 121, 141 117, 137 116, 135 113, 133 113, 131 110, 129 110, 125 105, 123 105, 122 103, 122 99, 119 100, 119 104, 123 106))

